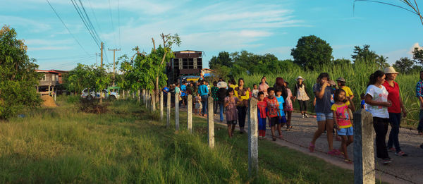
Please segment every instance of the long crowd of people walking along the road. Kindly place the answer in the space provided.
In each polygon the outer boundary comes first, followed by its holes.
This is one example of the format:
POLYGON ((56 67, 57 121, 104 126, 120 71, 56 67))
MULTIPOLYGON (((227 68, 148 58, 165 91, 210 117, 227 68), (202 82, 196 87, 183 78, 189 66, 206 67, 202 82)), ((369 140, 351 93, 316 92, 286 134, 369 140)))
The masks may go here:
MULTIPOLYGON (((403 101, 400 97, 400 88, 395 82, 398 72, 393 67, 376 70, 369 76, 367 90, 360 95, 360 108, 369 111, 373 116, 373 127, 376 133, 376 157, 381 159, 383 164, 391 163, 388 152, 394 152, 398 157, 407 157, 407 154, 400 148, 398 140, 400 121, 407 116, 403 101), (386 143, 388 125, 391 125, 391 133, 386 143)), ((187 105, 187 96, 191 94, 192 103, 195 106, 195 114, 207 116, 208 97, 214 99, 214 116, 220 116, 220 121, 226 119, 228 125, 228 136, 233 137, 235 125, 238 124, 240 133, 245 133, 245 119, 247 116, 248 100, 257 99, 257 118, 259 139, 266 139, 266 123, 271 130, 271 139, 283 139, 282 128, 286 126, 289 131, 293 127, 291 118, 293 102, 298 101, 301 118, 309 118, 307 104, 313 99, 315 116, 317 118, 317 130, 314 132, 309 151, 314 152, 316 140, 321 134, 326 133, 328 142, 328 154, 343 155, 345 162, 352 164, 348 157, 347 147, 353 142, 353 94, 347 81, 340 77, 336 82, 331 80, 328 73, 320 73, 316 83, 312 87, 313 94, 309 94, 305 85, 305 79, 301 76, 296 78, 293 92, 290 90, 289 82, 283 78, 276 78, 275 84, 270 87, 263 76, 259 84, 246 87, 243 78, 238 81, 230 79, 228 82, 220 78, 214 81, 212 86, 206 80, 198 82, 176 83, 171 87, 164 87, 163 92, 179 94, 180 106, 187 105), (218 110, 219 109, 219 110, 218 110), (341 147, 333 147, 333 137, 341 141, 341 147)), ((423 135, 423 71, 420 73, 420 80, 416 85, 417 98, 421 104, 420 121, 418 126, 419 135, 423 135)), ((164 95, 165 99, 167 95, 164 95)), ((175 95, 171 95, 172 98, 175 95)), ((165 100, 166 102, 166 100, 165 100)), ((171 102, 175 102, 172 99, 171 102)), ((173 106, 174 104, 172 104, 173 106)), ((423 144, 420 146, 423 148, 423 144)))

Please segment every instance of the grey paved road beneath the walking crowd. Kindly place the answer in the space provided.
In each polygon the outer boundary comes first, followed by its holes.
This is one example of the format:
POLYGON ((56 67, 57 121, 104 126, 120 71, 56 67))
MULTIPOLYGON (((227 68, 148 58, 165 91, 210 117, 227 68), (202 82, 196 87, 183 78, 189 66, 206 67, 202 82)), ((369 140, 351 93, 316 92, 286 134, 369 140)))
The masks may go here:
MULTIPOLYGON (((219 116, 214 116, 214 119, 215 123, 223 124, 220 123, 219 116)), ((312 140, 314 131, 317 130, 316 118, 301 118, 300 114, 293 113, 291 124, 293 128, 290 131, 286 131, 283 128, 283 140, 278 139, 275 141, 276 144, 297 149, 300 152, 319 157, 343 168, 353 169, 353 164, 345 164, 343 157, 333 157, 326 154, 328 151, 326 134, 321 135, 317 140, 315 151, 313 153, 309 152, 307 147, 312 140)), ((266 139, 271 141, 269 127, 266 134, 266 139)), ((391 164, 383 165, 376 161, 376 178, 388 183, 423 183, 423 149, 419 148, 419 145, 423 142, 423 136, 417 135, 416 130, 401 128, 399 138, 401 149, 410 156, 398 157, 390 152, 389 155, 393 159, 391 164)), ((386 141, 388 141, 388 135, 386 136, 386 141)), ((340 146, 340 141, 333 140, 333 147, 339 148, 340 146)), ((353 149, 353 144, 351 144, 348 147, 350 159, 354 158, 353 149)), ((374 152, 376 153, 376 150, 374 152)))

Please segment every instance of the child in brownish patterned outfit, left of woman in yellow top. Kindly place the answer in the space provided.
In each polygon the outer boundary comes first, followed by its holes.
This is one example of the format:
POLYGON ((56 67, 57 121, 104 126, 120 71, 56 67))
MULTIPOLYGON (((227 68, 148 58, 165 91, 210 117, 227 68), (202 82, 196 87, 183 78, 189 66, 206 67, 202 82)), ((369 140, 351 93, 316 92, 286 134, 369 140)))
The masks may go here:
POLYGON ((225 98, 226 107, 226 123, 228 124, 228 135, 232 138, 233 130, 235 130, 236 121, 238 120, 238 110, 236 105, 240 104, 237 97, 233 96, 233 88, 229 87, 228 97, 225 98))

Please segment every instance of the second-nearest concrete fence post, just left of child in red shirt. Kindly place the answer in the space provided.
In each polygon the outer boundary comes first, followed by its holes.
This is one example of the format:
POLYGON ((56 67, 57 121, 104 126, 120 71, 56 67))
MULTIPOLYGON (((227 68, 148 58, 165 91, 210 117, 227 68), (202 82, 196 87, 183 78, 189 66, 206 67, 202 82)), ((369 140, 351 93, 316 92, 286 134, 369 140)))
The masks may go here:
POLYGON ((259 144, 257 99, 251 98, 248 103, 248 173, 256 176, 259 171, 259 144))

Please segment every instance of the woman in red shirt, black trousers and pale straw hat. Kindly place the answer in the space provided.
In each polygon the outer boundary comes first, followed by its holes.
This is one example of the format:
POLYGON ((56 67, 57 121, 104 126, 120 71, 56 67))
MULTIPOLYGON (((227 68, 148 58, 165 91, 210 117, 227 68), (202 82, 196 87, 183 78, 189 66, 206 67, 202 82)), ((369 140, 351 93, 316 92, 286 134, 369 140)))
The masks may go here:
POLYGON ((388 107, 389 113, 389 123, 391 123, 391 133, 389 133, 388 139, 388 151, 395 152, 398 157, 407 157, 400 148, 400 142, 398 141, 398 134, 400 133, 400 123, 401 123, 401 111, 403 116, 407 116, 407 111, 403 104, 403 100, 400 96, 400 87, 398 83, 393 81, 396 79, 398 72, 392 66, 386 67, 384 69, 386 75, 386 80, 384 82, 384 87, 388 91, 388 100, 392 102, 392 106, 388 107), (395 146, 395 148, 393 148, 395 146))

